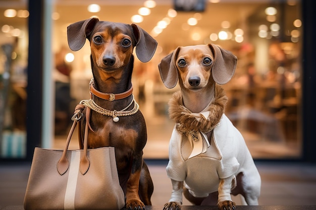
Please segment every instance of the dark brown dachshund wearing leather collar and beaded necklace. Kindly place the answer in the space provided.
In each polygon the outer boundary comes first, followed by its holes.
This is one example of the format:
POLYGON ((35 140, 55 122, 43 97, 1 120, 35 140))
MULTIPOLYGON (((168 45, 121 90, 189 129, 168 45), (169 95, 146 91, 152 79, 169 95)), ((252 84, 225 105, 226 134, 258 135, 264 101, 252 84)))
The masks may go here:
MULTIPOLYGON (((91 108, 88 147, 115 148, 126 208, 145 208, 151 205, 153 184, 142 158, 147 132, 144 117, 132 95, 132 53, 136 47, 139 60, 148 62, 157 43, 135 24, 96 18, 69 25, 67 33, 70 49, 79 50, 85 39, 91 47, 91 100, 85 100, 84 104, 91 108)), ((85 120, 81 121, 83 136, 85 120)))

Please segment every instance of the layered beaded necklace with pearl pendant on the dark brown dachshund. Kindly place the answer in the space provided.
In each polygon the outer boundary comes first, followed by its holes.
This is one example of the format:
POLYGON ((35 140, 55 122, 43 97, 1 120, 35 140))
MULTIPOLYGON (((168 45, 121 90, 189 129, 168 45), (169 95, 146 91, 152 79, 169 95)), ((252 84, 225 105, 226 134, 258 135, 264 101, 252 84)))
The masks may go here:
POLYGON ((89 107, 90 109, 92 109, 93 111, 96 111, 99 114, 112 116, 114 122, 118 122, 120 120, 119 117, 130 116, 130 115, 136 114, 136 112, 139 110, 139 105, 136 103, 134 95, 133 95, 133 99, 132 99, 131 103, 127 107, 125 107, 124 109, 122 109, 120 111, 117 111, 117 110, 111 111, 108 109, 104 109, 104 108, 100 107, 99 105, 97 105, 92 99, 82 100, 80 102, 80 104, 83 104, 84 106, 89 107), (129 111, 125 111, 126 109, 128 109, 132 105, 133 102, 134 102, 133 109, 129 110, 129 111))

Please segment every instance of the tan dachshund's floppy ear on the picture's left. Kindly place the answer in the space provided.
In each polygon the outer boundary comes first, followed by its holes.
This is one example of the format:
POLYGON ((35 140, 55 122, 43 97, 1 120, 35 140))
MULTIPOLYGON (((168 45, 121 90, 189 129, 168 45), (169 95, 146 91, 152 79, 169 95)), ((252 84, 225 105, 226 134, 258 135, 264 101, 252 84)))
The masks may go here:
POLYGON ((174 88, 179 79, 179 73, 176 66, 176 60, 180 51, 180 47, 167 55, 158 64, 160 77, 167 88, 174 88))

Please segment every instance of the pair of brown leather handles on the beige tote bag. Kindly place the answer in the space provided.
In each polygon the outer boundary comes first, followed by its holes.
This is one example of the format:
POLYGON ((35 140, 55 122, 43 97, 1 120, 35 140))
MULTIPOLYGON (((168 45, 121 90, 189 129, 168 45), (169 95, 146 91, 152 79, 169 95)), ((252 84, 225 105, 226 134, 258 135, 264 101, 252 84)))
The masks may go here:
MULTIPOLYGON (((74 122, 70 128, 69 134, 67 136, 67 141, 66 141, 66 146, 63 152, 63 155, 61 157, 61 159, 58 161, 57 163, 57 170, 60 173, 60 175, 63 175, 64 173, 66 173, 66 171, 69 168, 69 159, 67 157, 67 151, 68 151, 68 147, 69 147, 69 143, 71 140, 71 136, 74 133, 74 130, 76 128, 77 123, 80 123, 80 120, 83 116, 82 110, 85 108, 84 105, 82 104, 78 104, 75 108, 75 112, 73 117, 71 118, 74 122)), ((87 155, 87 150, 88 150, 88 131, 89 131, 89 126, 88 126, 88 122, 90 119, 90 108, 87 107, 86 108, 86 126, 85 126, 85 131, 84 131, 84 142, 83 142, 83 156, 80 160, 80 172, 82 175, 84 175, 90 166, 90 161, 87 155)))

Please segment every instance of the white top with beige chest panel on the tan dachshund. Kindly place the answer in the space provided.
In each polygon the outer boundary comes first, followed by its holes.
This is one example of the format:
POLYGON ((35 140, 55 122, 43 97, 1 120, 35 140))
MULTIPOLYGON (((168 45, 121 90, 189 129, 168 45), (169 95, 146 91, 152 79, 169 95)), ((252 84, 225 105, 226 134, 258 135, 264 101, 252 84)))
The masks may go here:
POLYGON ((184 181, 195 197, 218 191, 220 179, 240 172, 257 174, 244 138, 225 114, 214 128, 206 152, 189 158, 191 153, 189 138, 175 128, 170 139, 167 174, 173 180, 184 181))

